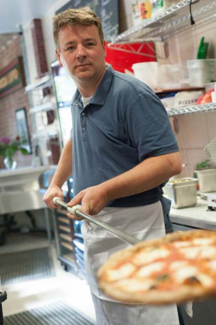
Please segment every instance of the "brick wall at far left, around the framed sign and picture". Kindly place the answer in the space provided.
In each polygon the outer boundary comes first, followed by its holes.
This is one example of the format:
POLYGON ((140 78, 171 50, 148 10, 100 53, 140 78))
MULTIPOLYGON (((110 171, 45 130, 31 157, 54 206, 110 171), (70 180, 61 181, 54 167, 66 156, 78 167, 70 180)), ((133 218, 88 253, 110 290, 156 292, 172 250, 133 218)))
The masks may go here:
MULTIPOLYGON (((20 36, 13 38, 5 48, 0 49, 0 71, 22 56, 20 36)), ((0 137, 8 136, 14 139, 17 135, 15 111, 26 108, 29 132, 31 137, 31 124, 28 117, 29 102, 25 88, 21 87, 0 98, 0 137)), ((23 156, 20 152, 15 154, 17 166, 27 166, 31 164, 31 155, 23 156)), ((0 157, 0 168, 4 168, 3 158, 0 157)))

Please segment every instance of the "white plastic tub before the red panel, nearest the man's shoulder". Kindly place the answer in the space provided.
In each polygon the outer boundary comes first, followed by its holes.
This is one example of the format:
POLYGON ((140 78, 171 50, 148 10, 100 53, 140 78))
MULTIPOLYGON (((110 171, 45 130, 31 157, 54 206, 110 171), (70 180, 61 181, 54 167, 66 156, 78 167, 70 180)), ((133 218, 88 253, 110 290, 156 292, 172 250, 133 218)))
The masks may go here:
POLYGON ((151 89, 157 88, 157 71, 158 63, 152 62, 140 62, 132 65, 134 70, 134 76, 148 85, 151 89))

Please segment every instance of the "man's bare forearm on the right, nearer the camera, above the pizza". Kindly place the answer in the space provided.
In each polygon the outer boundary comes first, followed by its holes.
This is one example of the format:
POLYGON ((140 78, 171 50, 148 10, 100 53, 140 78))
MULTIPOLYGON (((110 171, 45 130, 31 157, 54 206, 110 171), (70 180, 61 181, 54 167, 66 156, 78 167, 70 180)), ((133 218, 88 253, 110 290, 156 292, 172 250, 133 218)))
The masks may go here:
POLYGON ((178 152, 149 157, 142 163, 101 184, 110 200, 148 191, 181 172, 178 152))

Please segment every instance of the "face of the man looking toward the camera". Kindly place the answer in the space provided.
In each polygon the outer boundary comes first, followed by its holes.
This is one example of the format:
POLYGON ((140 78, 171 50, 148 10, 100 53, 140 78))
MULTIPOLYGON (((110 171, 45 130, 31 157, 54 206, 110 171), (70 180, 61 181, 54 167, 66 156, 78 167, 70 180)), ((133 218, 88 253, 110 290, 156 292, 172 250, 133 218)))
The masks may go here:
POLYGON ((56 55, 76 83, 97 81, 105 71, 105 42, 95 25, 66 25, 59 31, 56 55))

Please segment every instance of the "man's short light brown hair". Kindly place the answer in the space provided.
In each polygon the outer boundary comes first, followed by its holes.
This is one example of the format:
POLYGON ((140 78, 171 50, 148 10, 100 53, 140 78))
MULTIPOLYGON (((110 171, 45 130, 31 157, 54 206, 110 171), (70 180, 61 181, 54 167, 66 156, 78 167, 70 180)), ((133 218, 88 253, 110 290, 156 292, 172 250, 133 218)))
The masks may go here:
POLYGON ((76 9, 67 9, 63 12, 58 13, 53 17, 53 36, 56 48, 60 51, 59 46, 59 31, 62 27, 66 25, 83 25, 90 26, 95 25, 101 43, 104 41, 102 23, 100 18, 96 15, 96 13, 91 10, 89 7, 82 7, 76 9))

